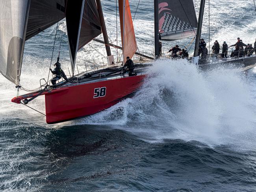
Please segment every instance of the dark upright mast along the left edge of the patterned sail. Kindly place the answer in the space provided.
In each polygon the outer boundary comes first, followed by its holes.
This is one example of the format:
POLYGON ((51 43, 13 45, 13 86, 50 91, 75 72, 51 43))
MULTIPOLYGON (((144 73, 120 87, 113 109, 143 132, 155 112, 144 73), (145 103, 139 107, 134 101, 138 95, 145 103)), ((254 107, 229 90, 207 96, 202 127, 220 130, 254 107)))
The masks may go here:
POLYGON ((155 59, 158 59, 160 56, 158 0, 154 0, 154 10, 155 10, 155 59))

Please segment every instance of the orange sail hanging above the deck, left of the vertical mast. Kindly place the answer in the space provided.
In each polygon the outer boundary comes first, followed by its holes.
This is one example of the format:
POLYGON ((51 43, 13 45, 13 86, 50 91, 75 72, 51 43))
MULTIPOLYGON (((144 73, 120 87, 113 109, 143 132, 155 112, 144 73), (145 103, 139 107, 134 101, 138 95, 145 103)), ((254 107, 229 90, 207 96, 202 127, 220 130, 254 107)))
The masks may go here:
POLYGON ((129 0, 119 0, 119 16, 121 25, 123 61, 125 63, 126 57, 132 58, 137 50, 129 0))

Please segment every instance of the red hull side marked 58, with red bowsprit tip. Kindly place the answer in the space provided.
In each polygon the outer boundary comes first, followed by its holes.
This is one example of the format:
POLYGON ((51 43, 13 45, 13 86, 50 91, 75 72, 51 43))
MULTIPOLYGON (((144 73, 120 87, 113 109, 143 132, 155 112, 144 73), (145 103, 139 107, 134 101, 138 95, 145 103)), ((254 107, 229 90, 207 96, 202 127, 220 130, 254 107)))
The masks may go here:
MULTIPOLYGON (((90 83, 76 84, 43 92, 45 95, 46 122, 54 124, 88 116, 107 109, 143 84, 146 74, 102 79, 90 83)), ((12 102, 30 98, 35 94, 15 97, 12 102)))

